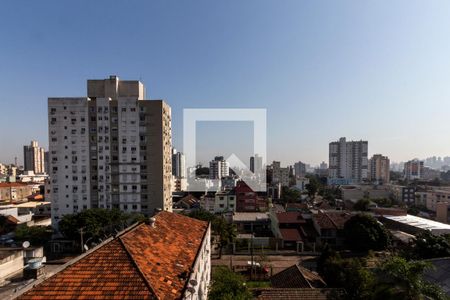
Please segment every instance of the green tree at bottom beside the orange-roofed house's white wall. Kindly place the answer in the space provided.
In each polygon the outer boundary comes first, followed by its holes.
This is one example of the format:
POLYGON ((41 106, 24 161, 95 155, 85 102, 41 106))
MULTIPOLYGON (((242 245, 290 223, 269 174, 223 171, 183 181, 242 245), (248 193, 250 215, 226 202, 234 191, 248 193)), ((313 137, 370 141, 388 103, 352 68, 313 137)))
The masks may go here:
POLYGON ((247 289, 242 276, 234 273, 225 266, 219 266, 213 270, 208 299, 250 300, 253 297, 247 289))

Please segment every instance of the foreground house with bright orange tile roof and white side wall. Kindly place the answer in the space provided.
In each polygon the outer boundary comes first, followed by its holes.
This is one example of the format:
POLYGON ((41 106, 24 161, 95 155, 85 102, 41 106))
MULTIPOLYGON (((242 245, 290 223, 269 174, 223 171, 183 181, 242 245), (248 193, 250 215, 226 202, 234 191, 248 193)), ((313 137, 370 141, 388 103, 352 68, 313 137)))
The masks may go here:
POLYGON ((206 299, 210 226, 163 211, 19 290, 16 299, 206 299))

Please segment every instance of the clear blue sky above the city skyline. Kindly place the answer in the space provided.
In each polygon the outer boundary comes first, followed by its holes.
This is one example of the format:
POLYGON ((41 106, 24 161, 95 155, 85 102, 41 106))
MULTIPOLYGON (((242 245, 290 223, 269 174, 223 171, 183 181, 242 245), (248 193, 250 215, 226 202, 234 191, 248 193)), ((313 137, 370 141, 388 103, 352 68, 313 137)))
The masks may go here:
POLYGON ((269 161, 341 136, 450 155, 450 1, 2 1, 0 161, 47 147, 47 97, 110 74, 172 106, 177 148, 183 108, 246 107, 267 108, 269 161))

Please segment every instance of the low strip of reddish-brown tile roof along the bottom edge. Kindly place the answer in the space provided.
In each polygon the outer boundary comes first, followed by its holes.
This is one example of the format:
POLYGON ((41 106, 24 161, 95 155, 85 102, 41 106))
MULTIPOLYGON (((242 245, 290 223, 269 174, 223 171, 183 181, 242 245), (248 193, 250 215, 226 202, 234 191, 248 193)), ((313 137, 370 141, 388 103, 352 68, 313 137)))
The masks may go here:
POLYGON ((327 300, 344 299, 341 289, 258 289, 254 291, 259 300, 327 300))

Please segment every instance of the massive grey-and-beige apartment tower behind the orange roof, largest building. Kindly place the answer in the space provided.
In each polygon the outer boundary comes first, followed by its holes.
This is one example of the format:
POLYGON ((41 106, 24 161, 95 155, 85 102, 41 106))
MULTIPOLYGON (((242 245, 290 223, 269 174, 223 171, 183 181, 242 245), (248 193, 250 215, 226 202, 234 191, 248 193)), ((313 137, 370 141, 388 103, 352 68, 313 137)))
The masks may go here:
POLYGON ((171 110, 139 81, 88 80, 87 97, 49 98, 52 219, 87 208, 172 208, 171 110))

